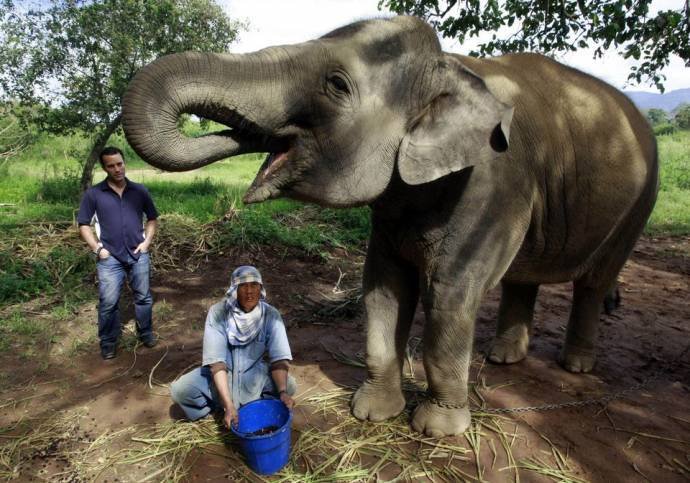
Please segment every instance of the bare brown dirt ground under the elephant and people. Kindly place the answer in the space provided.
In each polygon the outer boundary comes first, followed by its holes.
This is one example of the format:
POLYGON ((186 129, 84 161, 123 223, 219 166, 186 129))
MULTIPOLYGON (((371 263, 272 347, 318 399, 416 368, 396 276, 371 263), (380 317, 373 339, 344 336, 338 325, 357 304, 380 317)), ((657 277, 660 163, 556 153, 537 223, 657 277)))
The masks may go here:
MULTIPOLYGON (((329 351, 361 355, 363 314, 356 304, 349 313, 341 310, 331 316, 326 312, 332 307, 327 301, 335 292, 358 286, 363 255, 340 250, 326 258, 298 256, 289 250, 253 253, 211 260, 193 272, 155 274, 153 292, 159 310, 154 323, 161 342, 154 349, 125 347, 116 359, 104 362, 94 338, 89 350, 77 357, 60 358, 57 349, 47 350, 51 364, 39 373, 36 363, 3 357, 0 438, 11 441, 24 427, 22 421, 32 422, 26 427, 36 428, 39 421, 50 421, 53 415, 80 411, 79 424, 64 429, 50 444, 37 442, 40 451, 26 450, 29 454, 14 476, 23 481, 84 478, 74 468, 74 458, 65 457, 60 448, 84 451, 99 435, 123 430, 119 437, 112 436, 115 451, 133 444, 126 428, 179 417, 163 386, 200 362, 206 310, 222 297, 229 273, 238 264, 252 263, 261 269, 269 302, 279 308, 288 325, 295 359, 292 374, 299 384, 293 441, 315 417, 304 403, 304 395, 337 385, 358 385, 365 377, 364 369, 339 362, 329 351)), ((525 360, 510 366, 484 364, 499 301, 500 289, 492 290, 476 324, 471 380, 486 408, 543 406, 618 395, 608 402, 503 415, 514 431, 511 444, 516 460, 539 459, 556 447, 567 456, 572 476, 581 480, 688 481, 690 238, 640 240, 621 274, 620 287, 622 306, 611 316, 601 316, 598 361, 587 375, 570 374, 556 363, 570 308, 570 284, 541 288, 525 360)), ((131 308, 125 315, 131 319, 131 308)), ((83 307, 58 336, 69 339, 75 331, 95 333, 95 316, 93 304, 83 307)), ((413 341, 421 335, 423 320, 418 312, 413 341)), ((414 367, 416 377, 423 380, 419 352, 414 367)), ((462 437, 446 440, 465 441, 462 437)), ((2 444, 7 443, 0 441, 2 444)), ((479 461, 485 481, 514 481, 514 473, 502 470, 505 462, 496 463, 491 446, 483 446, 476 459, 453 464, 468 475, 477 475, 479 461)), ((189 462, 189 468, 185 480, 232 479, 222 454, 202 453, 189 462)), ((98 479, 135 481, 146 474, 146 468, 132 464, 110 468, 98 479)), ((388 470, 378 476, 390 480, 396 475, 388 470)), ((529 469, 520 470, 519 477, 520 481, 552 479, 529 469)), ((149 478, 159 479, 155 474, 149 478)))

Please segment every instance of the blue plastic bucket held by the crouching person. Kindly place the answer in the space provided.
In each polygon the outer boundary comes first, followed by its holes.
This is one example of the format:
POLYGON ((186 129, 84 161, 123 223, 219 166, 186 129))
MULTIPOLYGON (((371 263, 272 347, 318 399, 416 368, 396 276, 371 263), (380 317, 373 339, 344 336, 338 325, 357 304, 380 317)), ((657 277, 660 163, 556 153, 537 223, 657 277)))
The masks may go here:
POLYGON ((238 411, 239 424, 232 432, 240 439, 240 447, 249 467, 261 475, 272 475, 290 457, 290 426, 292 413, 277 399, 258 399, 238 411), (266 428, 277 428, 257 434, 266 428))

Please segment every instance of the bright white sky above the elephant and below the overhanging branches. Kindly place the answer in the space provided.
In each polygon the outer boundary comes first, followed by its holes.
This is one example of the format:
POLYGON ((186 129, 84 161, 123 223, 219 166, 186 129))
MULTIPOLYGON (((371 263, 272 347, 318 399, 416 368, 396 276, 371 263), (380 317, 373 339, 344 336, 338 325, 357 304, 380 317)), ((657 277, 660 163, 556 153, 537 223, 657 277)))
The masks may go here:
MULTIPOLYGON (((247 22, 248 29, 233 44, 233 52, 253 52, 271 45, 304 42, 356 20, 392 15, 379 11, 379 0, 219 0, 231 18, 247 22)), ((654 0, 652 13, 659 9, 678 9, 684 0, 654 0)), ((447 52, 467 53, 471 48, 441 39, 447 52)), ((658 92, 647 84, 627 84, 632 63, 610 51, 593 59, 593 49, 560 55, 558 59, 628 91, 658 92)), ((662 71, 666 92, 690 87, 690 68, 674 56, 662 71)))

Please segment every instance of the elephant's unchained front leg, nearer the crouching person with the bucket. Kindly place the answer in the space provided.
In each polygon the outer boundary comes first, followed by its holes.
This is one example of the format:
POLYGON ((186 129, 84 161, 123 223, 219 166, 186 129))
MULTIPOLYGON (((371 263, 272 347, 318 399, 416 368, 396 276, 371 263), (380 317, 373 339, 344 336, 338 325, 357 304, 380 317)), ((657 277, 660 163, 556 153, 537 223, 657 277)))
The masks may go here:
POLYGON ((357 419, 383 421, 405 408, 402 365, 418 292, 416 271, 386 263, 384 254, 372 256, 373 245, 364 267, 368 374, 351 407, 357 419))

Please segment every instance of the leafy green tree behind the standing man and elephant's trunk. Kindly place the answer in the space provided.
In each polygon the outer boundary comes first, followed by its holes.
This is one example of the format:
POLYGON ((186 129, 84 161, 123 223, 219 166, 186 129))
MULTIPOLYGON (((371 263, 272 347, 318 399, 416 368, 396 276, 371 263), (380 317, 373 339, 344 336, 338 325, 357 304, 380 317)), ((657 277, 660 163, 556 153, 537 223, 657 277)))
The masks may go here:
POLYGON ((91 165, 139 68, 173 52, 227 51, 244 28, 213 0, 0 2, 1 100, 31 106, 24 113, 47 132, 94 133, 91 165))

